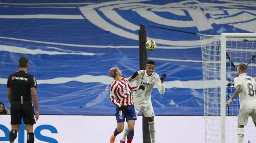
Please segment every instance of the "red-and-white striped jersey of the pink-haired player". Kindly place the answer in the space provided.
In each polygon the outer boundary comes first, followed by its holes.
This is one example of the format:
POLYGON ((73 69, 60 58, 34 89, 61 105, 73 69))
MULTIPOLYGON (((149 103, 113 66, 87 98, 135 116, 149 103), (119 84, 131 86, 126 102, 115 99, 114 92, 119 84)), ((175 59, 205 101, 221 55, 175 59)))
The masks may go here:
POLYGON ((132 86, 125 77, 122 77, 119 81, 114 80, 110 86, 110 101, 117 107, 133 105, 131 90, 136 91, 138 89, 139 86, 132 86))

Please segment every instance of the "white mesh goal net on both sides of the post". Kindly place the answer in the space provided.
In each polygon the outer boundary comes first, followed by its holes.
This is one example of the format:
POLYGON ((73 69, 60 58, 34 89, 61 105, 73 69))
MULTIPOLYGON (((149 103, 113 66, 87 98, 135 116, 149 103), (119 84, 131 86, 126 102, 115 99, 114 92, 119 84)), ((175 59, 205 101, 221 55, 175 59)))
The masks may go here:
MULTIPOLYGON (((205 142, 221 143, 221 36, 200 35, 202 43, 203 98, 205 117, 205 142), (210 84, 209 84, 210 83, 210 84)), ((249 63, 256 53, 256 38, 226 38, 226 101, 235 91, 234 78, 240 63, 249 63)), ((256 64, 248 65, 247 75, 256 78, 256 64)), ((226 108, 225 143, 238 143, 237 124, 239 97, 226 108)), ((249 117, 244 127, 244 143, 256 143, 256 130, 249 117)))

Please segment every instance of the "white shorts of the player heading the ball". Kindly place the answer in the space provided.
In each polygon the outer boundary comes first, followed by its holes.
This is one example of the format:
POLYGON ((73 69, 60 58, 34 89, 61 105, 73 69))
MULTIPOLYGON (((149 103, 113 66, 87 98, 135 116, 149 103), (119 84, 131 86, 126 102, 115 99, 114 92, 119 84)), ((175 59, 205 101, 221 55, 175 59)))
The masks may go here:
POLYGON ((136 100, 133 100, 133 102, 134 102, 134 108, 135 108, 136 115, 138 115, 138 113, 141 110, 145 117, 153 117, 154 116, 154 109, 153 109, 151 102, 147 102, 144 104, 138 103, 136 100))

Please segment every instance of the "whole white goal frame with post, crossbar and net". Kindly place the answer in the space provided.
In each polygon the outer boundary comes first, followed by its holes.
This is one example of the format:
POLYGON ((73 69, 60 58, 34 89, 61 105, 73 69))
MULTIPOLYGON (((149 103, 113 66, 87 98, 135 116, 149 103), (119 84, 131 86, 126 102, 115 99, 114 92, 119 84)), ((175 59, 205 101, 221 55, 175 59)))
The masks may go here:
MULTIPOLYGON (((226 96, 228 95, 229 98, 235 89, 234 86, 228 86, 229 92, 227 93, 227 84, 234 80, 237 65, 248 63, 251 60, 250 55, 256 53, 256 34, 200 34, 200 39, 204 82, 205 143, 233 143, 237 139, 239 100, 234 101, 229 109, 225 107, 226 96), (209 86, 207 83, 210 82, 215 84, 209 86)), ((247 73, 254 77, 256 66, 249 66, 247 73)), ((255 135, 252 135, 250 136, 251 140, 253 136, 255 138, 255 135)))

